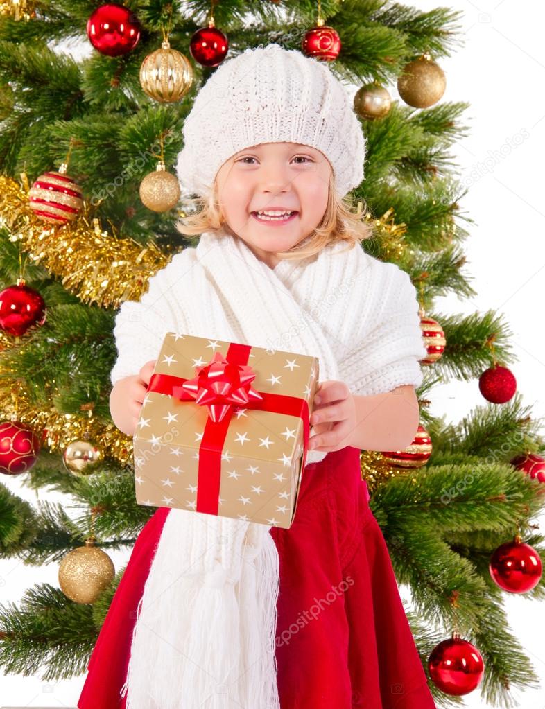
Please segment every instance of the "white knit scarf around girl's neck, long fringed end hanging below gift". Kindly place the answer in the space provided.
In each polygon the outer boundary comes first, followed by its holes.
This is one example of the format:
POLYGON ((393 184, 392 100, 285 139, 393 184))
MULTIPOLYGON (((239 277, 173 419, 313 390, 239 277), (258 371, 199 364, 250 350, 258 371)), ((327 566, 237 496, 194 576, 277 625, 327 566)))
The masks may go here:
MULTIPOLYGON (((204 233, 175 258, 180 332, 311 354, 320 381, 339 379, 369 265, 359 245, 271 269, 241 239, 204 233)), ((325 455, 309 451, 307 464, 325 455)), ((127 708, 279 709, 279 581, 268 525, 170 510, 138 605, 127 708)))

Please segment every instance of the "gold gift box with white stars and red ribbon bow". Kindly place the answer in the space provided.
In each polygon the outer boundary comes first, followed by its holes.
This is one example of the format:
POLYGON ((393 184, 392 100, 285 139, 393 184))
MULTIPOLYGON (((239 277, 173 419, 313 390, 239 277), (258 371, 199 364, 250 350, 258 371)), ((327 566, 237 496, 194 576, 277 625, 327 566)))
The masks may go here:
POLYGON ((133 437, 136 501, 289 529, 317 357, 167 333, 133 437))

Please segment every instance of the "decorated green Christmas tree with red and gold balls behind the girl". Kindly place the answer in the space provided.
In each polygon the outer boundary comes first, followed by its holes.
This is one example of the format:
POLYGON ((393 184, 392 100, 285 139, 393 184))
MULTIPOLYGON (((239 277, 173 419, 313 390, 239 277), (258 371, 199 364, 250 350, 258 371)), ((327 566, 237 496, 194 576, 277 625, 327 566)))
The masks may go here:
POLYGON ((509 705, 511 687, 536 683, 502 601, 544 597, 532 520, 545 442, 507 367, 507 323, 434 311, 438 296, 475 295, 448 153, 466 134, 467 104, 441 102, 457 21, 383 0, 0 2, 0 471, 79 506, 72 516, 47 500, 31 506, 0 484, 4 559, 60 571, 59 587, 35 584, 19 606, 0 607, 6 673, 84 673, 124 571, 107 551, 131 547, 155 511, 136 504, 132 440, 109 412, 115 314, 198 240, 176 227, 196 206, 172 164, 199 86, 226 57, 275 42, 357 89, 368 162, 350 201, 373 227, 362 247, 399 264, 419 292, 421 425, 404 451, 363 451, 361 467, 397 580, 412 591, 431 690, 441 706, 476 686, 509 705), (73 39, 92 53, 63 51, 73 39), (387 91, 396 82, 402 101, 387 91), (483 393, 458 424, 427 408, 451 379, 478 379, 483 393), (82 565, 94 571, 83 584, 82 565), (468 654, 482 661, 449 674, 468 654))

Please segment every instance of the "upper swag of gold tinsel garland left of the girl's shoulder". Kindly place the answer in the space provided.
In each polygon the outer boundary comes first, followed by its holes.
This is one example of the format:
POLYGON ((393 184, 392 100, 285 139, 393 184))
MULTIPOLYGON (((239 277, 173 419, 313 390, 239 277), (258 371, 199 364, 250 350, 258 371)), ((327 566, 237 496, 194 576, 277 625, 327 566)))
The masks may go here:
POLYGON ((89 218, 87 204, 75 222, 46 225, 29 208, 28 180, 21 177, 24 187, 0 175, 0 227, 83 303, 119 308, 123 301, 139 300, 148 279, 170 261, 153 241, 142 247, 101 230, 99 221, 89 218))

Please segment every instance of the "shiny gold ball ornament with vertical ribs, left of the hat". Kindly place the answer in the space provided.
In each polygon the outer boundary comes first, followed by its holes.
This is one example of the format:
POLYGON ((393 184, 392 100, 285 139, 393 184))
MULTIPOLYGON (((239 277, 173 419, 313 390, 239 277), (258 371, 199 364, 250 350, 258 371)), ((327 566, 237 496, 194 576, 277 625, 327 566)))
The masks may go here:
POLYGON ((140 67, 143 91, 155 101, 172 104, 180 101, 193 83, 193 67, 181 52, 170 48, 167 39, 161 48, 145 57, 140 67))

